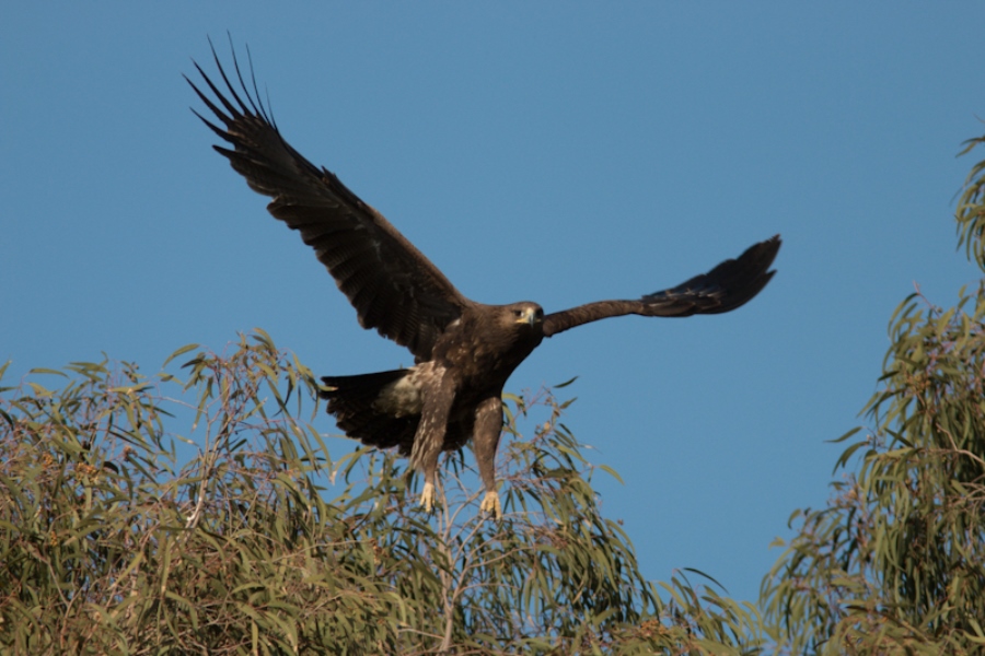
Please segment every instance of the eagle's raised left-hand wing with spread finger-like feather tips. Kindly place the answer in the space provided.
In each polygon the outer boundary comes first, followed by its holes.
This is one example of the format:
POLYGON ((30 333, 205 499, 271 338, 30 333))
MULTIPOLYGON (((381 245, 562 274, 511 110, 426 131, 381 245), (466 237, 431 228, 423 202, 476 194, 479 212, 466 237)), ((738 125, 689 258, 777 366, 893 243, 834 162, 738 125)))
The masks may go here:
POLYGON ((283 140, 259 101, 256 81, 253 95, 243 82, 235 52, 239 93, 215 48, 212 57, 230 97, 198 63, 195 68, 221 107, 192 80, 185 80, 222 125, 193 109, 195 115, 233 145, 232 150, 213 148, 254 191, 274 199, 267 210, 299 231, 304 243, 315 249, 338 289, 356 307, 363 328, 375 328, 407 347, 418 360, 429 359, 434 340, 471 302, 382 214, 283 140))

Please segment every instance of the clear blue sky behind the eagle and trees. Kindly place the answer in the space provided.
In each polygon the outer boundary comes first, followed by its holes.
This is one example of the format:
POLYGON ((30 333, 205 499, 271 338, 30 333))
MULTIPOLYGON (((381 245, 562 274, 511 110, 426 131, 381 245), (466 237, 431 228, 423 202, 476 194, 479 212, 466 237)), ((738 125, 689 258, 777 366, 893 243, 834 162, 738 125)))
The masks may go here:
POLYGON ((983 24, 981 2, 16 3, 0 361, 151 374, 258 326, 317 373, 409 364, 188 110, 181 74, 215 70, 209 35, 228 61, 229 31, 291 144, 477 301, 637 297, 783 235, 738 312, 587 326, 507 385, 579 376, 566 424, 623 476, 599 489, 646 575, 754 599, 790 513, 827 497, 893 309, 976 279, 952 213, 983 24))

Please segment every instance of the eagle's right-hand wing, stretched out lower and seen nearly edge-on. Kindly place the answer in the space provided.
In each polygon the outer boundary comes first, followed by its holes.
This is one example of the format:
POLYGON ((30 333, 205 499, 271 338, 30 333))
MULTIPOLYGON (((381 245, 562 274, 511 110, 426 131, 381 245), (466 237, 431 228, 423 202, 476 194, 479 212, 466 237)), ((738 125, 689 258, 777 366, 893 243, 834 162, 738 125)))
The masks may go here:
POLYGON ((737 259, 721 262, 707 273, 677 286, 647 294, 638 301, 599 301, 544 317, 544 335, 627 314, 645 317, 690 317, 721 314, 748 303, 766 286, 776 271, 769 265, 780 247, 779 235, 750 246, 737 259))

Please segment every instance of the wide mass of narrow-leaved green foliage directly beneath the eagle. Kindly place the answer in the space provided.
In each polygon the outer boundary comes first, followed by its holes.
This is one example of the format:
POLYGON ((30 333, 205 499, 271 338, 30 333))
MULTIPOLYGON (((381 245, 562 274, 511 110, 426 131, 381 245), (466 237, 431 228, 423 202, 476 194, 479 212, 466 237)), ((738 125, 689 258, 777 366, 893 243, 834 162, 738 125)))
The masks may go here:
POLYGON ((600 512, 596 468, 560 423, 566 403, 549 393, 512 399, 497 523, 478 514, 461 455, 444 461, 432 516, 404 461, 358 450, 333 462, 310 423, 314 378, 263 332, 228 354, 198 352, 181 375, 73 363, 0 389, 0 648, 756 648, 751 607, 684 576, 662 588, 642 577, 627 536, 600 512), (49 376, 61 386, 39 383, 49 376), (182 443, 200 445, 185 464, 182 443))

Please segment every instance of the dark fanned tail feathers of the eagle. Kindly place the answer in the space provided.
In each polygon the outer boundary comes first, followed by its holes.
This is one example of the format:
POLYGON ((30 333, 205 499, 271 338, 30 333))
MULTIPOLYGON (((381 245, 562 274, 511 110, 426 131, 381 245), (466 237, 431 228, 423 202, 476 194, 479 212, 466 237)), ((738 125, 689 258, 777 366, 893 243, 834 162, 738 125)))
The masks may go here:
MULTIPOLYGON (((409 456, 420 413, 399 414, 378 402, 387 386, 406 377, 410 370, 394 370, 357 376, 324 376, 328 390, 321 393, 328 400, 328 413, 335 415, 338 427, 346 435, 376 448, 399 447, 409 456)), ((392 389, 392 388, 391 388, 392 389)))

